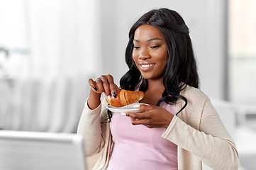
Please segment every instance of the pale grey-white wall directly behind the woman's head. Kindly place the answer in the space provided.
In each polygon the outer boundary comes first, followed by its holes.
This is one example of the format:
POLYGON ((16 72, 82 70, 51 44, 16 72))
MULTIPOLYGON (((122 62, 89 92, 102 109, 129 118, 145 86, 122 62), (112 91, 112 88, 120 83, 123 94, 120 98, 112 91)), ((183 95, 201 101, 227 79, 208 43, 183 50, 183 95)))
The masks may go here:
POLYGON ((177 11, 190 30, 196 53, 201 90, 208 96, 223 98, 225 78, 225 3, 222 0, 98 0, 101 13, 102 74, 112 74, 118 83, 128 70, 124 61, 128 31, 143 13, 166 7, 177 11))

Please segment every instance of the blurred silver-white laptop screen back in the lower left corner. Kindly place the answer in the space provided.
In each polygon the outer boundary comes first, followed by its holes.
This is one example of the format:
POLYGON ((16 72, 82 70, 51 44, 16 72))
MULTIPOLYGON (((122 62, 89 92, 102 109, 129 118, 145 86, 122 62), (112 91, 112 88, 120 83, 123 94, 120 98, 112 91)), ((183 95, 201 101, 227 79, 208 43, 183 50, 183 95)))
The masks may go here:
POLYGON ((82 136, 0 130, 1 170, 87 170, 82 136))

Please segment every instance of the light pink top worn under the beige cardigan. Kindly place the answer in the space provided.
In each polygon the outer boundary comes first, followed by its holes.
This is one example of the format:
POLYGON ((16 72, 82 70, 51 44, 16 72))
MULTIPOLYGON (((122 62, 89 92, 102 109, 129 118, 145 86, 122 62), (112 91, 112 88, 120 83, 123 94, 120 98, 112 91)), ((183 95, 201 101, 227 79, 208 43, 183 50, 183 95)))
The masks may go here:
MULTIPOLYGON (((175 105, 162 108, 175 115, 175 105)), ((113 113, 110 123, 113 151, 108 170, 178 169, 177 145, 162 137, 165 128, 132 125, 130 117, 113 113)))

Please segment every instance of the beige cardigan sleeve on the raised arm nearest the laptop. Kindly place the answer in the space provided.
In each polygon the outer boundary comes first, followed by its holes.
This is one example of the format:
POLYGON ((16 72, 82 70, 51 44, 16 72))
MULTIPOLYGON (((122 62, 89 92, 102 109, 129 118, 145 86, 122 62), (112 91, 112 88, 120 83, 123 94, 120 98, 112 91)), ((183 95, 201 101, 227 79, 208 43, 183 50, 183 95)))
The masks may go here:
MULTIPOLYGON (((87 98, 88 101, 88 98, 87 98)), ((104 147, 106 123, 102 123, 106 119, 106 102, 91 110, 87 101, 84 105, 81 118, 79 120, 77 134, 84 138, 84 151, 86 157, 97 154, 104 147), (105 113, 104 113, 105 112, 105 113)))

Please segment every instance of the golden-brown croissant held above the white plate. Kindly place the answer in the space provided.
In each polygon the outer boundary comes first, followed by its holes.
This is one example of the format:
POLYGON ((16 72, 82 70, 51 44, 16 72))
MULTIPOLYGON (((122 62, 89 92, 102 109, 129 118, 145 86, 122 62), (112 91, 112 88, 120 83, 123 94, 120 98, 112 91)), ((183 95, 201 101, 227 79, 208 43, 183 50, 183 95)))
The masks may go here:
POLYGON ((106 96, 106 101, 114 107, 123 107, 132 103, 136 103, 143 99, 143 91, 127 91, 124 89, 119 89, 116 91, 116 98, 111 96, 111 100, 108 100, 106 96))

